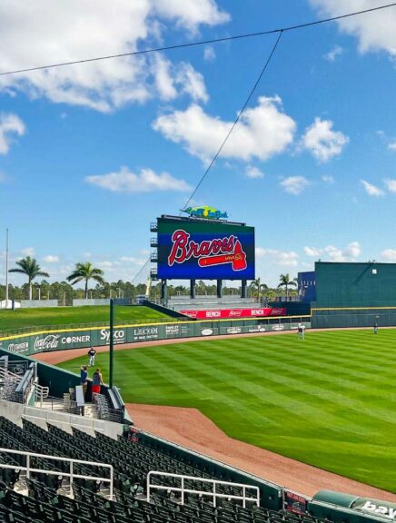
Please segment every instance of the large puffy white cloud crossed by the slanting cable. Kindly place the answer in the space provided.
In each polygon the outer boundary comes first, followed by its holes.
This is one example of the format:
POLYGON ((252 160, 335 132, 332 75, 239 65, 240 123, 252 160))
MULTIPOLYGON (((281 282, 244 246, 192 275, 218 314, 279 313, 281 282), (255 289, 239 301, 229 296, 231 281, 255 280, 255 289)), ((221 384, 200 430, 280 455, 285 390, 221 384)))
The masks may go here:
MULTIPOLYGON (((213 157, 233 123, 223 121, 192 104, 185 111, 159 116, 153 123, 156 131, 203 161, 213 157)), ((223 158, 238 158, 249 162, 252 158, 267 160, 282 153, 292 143, 296 123, 282 112, 278 96, 262 96, 256 107, 247 109, 225 144, 223 158)))

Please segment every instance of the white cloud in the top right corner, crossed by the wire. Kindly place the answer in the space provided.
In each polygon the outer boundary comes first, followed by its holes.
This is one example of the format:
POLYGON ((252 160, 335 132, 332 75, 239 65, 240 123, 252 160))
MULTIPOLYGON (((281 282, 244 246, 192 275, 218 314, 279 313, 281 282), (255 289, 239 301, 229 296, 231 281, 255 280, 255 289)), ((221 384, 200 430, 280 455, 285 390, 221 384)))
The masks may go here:
MULTIPOLYGON (((386 4, 383 0, 310 0, 322 15, 344 15, 386 4)), ((382 9, 367 15, 351 16, 337 21, 343 33, 355 35, 361 53, 386 51, 396 56, 396 10, 382 9)))

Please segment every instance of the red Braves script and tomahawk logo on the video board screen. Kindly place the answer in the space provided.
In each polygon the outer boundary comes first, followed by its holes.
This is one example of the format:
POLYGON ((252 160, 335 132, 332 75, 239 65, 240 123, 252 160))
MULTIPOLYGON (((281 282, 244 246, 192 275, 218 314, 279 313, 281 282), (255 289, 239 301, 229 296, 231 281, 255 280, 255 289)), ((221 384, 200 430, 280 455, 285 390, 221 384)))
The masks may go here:
POLYGON ((168 256, 169 266, 186 262, 191 258, 196 258, 200 267, 223 263, 231 263, 233 271, 243 271, 247 267, 246 253, 243 252, 241 242, 233 235, 197 243, 190 240, 190 234, 183 229, 174 231, 172 250, 168 256))

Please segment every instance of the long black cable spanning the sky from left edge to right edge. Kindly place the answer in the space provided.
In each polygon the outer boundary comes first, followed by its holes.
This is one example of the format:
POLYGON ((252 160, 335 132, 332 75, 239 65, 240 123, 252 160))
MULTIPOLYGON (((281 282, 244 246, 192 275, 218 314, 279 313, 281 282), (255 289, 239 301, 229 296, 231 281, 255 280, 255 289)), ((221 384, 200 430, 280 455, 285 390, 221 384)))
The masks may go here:
POLYGON ((395 7, 395 6, 396 6, 396 2, 392 3, 392 4, 387 4, 387 5, 379 5, 378 7, 371 7, 370 9, 363 9, 361 11, 355 11, 353 13, 348 13, 346 15, 332 16, 331 18, 323 18, 322 20, 306 22, 304 24, 299 24, 299 25, 290 25, 288 27, 282 27, 280 29, 269 29, 267 31, 259 31, 256 33, 246 33, 243 35, 223 36, 223 38, 211 38, 209 40, 200 40, 198 42, 164 45, 163 47, 153 47, 151 49, 143 49, 142 51, 133 51, 130 53, 109 54, 107 56, 96 56, 94 58, 84 58, 82 60, 61 62, 59 64, 38 65, 36 67, 27 67, 25 69, 15 69, 14 71, 6 71, 5 73, 0 73, 0 76, 7 76, 7 75, 11 75, 11 74, 30 73, 33 71, 42 71, 45 69, 54 69, 55 67, 64 67, 65 65, 87 64, 89 62, 99 62, 101 60, 110 60, 113 58, 123 58, 125 56, 136 56, 138 54, 150 54, 150 53, 158 53, 161 51, 172 51, 173 49, 183 49, 186 47, 194 47, 197 45, 219 44, 222 42, 229 42, 231 40, 241 40, 243 38, 252 38, 252 37, 262 36, 262 35, 272 35, 274 33, 286 33, 287 31, 294 31, 295 29, 303 29, 306 27, 312 27, 313 25, 326 24, 328 22, 342 20, 342 18, 349 18, 350 16, 356 16, 356 15, 364 15, 366 13, 372 13, 373 11, 380 11, 381 9, 387 9, 388 7, 395 7))

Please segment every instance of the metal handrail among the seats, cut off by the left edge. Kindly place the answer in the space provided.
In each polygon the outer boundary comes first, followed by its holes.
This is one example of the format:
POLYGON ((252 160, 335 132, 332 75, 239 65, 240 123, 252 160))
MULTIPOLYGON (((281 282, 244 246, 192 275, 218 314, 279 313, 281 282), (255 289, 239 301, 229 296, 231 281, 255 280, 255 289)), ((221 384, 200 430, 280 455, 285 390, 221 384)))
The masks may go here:
POLYGON ((26 478, 30 478, 31 472, 41 472, 43 474, 49 474, 52 476, 63 476, 70 479, 70 493, 73 493, 73 479, 96 479, 97 481, 104 481, 110 483, 110 494, 109 498, 113 500, 113 481, 114 481, 114 469, 112 465, 108 463, 98 463, 96 461, 85 461, 84 459, 73 459, 73 458, 64 458, 62 456, 49 456, 47 454, 37 454, 36 452, 27 452, 25 450, 15 450, 15 449, 3 449, 0 448, 0 452, 5 452, 8 454, 18 454, 20 456, 26 457, 26 467, 22 465, 6 465, 5 463, 0 463, 0 469, 18 469, 25 470, 26 478), (56 461, 66 461, 70 464, 70 472, 61 472, 56 470, 45 470, 45 469, 32 469, 30 466, 31 458, 45 458, 45 459, 54 459, 56 461), (110 470, 110 478, 100 478, 97 476, 87 476, 85 474, 74 474, 73 466, 74 463, 80 463, 82 465, 91 465, 93 467, 104 467, 105 469, 110 470))

